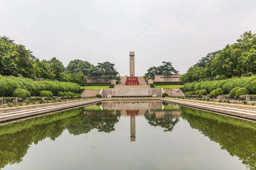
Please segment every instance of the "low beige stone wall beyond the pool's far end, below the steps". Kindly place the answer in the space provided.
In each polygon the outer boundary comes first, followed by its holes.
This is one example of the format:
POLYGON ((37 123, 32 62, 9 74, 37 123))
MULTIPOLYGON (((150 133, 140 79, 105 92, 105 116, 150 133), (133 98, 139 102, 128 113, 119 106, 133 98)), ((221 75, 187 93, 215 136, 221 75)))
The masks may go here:
POLYGON ((127 89, 104 89, 104 97, 108 96, 161 96, 161 89, 157 88, 127 88, 127 89))

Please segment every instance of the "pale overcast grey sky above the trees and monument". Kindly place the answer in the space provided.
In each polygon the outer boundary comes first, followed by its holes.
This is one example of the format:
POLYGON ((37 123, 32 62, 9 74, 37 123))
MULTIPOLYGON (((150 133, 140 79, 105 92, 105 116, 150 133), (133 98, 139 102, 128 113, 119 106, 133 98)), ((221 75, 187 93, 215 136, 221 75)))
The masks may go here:
POLYGON ((207 53, 256 33, 256 0, 0 0, 0 36, 66 67, 109 61, 135 76, 172 62, 180 74, 207 53))

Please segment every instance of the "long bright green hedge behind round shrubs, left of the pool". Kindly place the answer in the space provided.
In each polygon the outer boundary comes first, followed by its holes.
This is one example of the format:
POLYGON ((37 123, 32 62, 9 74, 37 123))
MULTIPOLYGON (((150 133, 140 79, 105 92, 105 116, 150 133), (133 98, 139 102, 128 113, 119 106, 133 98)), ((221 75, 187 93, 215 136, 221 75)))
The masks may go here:
POLYGON ((0 96, 11 96, 18 88, 27 90, 32 96, 37 96, 40 91, 50 91, 56 95, 58 91, 79 93, 81 90, 80 85, 74 83, 0 75, 0 96))

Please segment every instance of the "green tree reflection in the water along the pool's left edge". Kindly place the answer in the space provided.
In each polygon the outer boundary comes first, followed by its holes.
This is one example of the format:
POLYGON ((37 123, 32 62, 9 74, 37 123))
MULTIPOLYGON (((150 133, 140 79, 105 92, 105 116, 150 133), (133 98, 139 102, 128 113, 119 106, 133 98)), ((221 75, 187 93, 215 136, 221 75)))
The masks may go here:
POLYGON ((0 126, 0 169, 21 162, 31 144, 46 137, 55 140, 65 129, 73 135, 94 128, 109 133, 115 130, 118 117, 119 113, 113 115, 109 111, 88 116, 84 108, 77 108, 0 126))

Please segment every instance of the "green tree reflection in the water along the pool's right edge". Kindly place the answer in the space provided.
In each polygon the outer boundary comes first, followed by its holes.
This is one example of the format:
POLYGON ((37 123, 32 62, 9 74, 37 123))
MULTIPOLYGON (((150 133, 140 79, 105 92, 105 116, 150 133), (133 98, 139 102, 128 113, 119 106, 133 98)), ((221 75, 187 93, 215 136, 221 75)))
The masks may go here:
POLYGON ((190 108, 183 108, 182 117, 231 156, 238 156, 248 169, 256 170, 255 122, 190 108))

